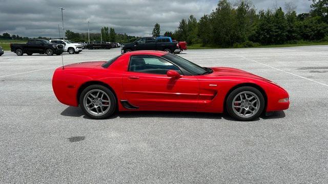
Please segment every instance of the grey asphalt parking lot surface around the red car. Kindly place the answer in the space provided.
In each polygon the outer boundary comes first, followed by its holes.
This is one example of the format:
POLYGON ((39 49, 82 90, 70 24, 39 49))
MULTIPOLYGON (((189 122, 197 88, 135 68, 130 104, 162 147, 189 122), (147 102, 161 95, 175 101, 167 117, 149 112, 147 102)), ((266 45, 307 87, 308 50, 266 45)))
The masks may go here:
MULTIPOLYGON (((202 66, 268 78, 290 109, 253 122, 224 114, 125 112, 91 120, 59 103, 61 56, 0 57, 0 182, 327 183, 328 46, 189 50, 202 66)), ((63 54, 109 60, 119 49, 63 54)))

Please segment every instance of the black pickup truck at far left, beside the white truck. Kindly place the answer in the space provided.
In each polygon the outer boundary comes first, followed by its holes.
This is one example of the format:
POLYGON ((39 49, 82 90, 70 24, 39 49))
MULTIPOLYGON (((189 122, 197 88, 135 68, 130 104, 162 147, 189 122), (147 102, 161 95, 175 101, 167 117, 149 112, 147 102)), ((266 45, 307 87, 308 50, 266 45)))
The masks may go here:
POLYGON ((33 53, 52 56, 53 54, 60 55, 64 49, 61 44, 54 44, 45 39, 32 39, 27 43, 10 44, 10 51, 16 53, 17 56, 22 56, 24 53, 29 56, 33 53))

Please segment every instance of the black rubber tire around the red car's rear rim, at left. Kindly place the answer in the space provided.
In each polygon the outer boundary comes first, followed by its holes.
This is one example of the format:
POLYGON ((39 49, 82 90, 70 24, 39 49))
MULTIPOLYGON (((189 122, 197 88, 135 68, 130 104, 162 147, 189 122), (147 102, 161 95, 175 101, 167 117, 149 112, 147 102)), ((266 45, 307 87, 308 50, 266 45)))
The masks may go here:
POLYGON ((116 110, 116 98, 115 98, 115 95, 113 94, 113 92, 110 89, 108 89, 107 87, 105 87, 103 85, 97 85, 97 84, 96 85, 90 85, 90 86, 86 87, 82 91, 81 95, 79 96, 79 105, 80 105, 81 109, 84 111, 84 113, 87 116, 89 116, 92 119, 101 120, 101 119, 106 119, 106 118, 110 117, 115 112, 115 110, 116 110), (87 110, 87 107, 84 105, 85 96, 88 94, 89 91, 94 90, 94 89, 100 89, 100 90, 104 91, 109 97, 109 101, 110 101, 109 102, 109 104, 110 104, 109 110, 101 116, 93 115, 92 113, 90 113, 87 110))

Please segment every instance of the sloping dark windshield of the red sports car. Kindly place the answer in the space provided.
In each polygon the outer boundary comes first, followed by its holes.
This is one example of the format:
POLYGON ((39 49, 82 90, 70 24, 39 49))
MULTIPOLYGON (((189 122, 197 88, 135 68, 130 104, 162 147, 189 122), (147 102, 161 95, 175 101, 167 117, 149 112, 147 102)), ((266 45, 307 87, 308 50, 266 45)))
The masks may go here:
POLYGON ((188 61, 187 59, 183 59, 174 54, 169 53, 169 54, 163 55, 162 58, 165 58, 165 59, 173 62, 174 64, 182 67, 183 69, 185 69, 187 72, 191 73, 192 75, 204 75, 204 74, 209 73, 207 68, 201 67, 191 61, 188 61))

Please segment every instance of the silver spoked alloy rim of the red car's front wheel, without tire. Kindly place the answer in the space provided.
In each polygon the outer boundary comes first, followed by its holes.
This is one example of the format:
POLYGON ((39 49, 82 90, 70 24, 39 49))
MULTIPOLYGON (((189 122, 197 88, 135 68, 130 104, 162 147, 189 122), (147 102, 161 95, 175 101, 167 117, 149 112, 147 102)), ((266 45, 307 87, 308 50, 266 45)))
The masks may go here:
POLYGON ((241 118, 253 117, 260 109, 260 99, 251 91, 242 91, 232 101, 235 114, 241 118))

